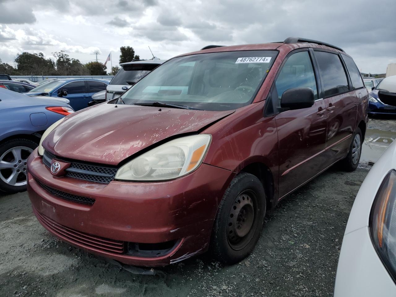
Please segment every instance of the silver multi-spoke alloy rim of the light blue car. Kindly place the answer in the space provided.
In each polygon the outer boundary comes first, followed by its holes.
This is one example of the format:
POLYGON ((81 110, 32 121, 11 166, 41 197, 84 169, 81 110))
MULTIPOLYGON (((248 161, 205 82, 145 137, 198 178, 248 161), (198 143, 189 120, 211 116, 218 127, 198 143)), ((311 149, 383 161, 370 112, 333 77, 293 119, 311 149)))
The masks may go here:
POLYGON ((0 156, 0 179, 7 185, 26 185, 27 158, 33 152, 30 147, 13 147, 0 156))

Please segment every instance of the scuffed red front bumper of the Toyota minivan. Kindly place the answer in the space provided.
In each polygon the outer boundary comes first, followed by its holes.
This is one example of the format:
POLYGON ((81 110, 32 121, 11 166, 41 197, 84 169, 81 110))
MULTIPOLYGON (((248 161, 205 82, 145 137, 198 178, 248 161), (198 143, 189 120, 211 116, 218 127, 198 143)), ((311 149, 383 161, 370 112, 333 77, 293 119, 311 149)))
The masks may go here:
POLYGON ((91 253, 136 266, 164 266, 208 249, 218 203, 234 173, 202 164, 172 181, 99 184, 54 177, 37 149, 28 160, 28 193, 40 223, 53 235, 91 253), (42 185, 95 199, 82 204, 42 185), (166 254, 130 253, 129 243, 175 242, 166 254))

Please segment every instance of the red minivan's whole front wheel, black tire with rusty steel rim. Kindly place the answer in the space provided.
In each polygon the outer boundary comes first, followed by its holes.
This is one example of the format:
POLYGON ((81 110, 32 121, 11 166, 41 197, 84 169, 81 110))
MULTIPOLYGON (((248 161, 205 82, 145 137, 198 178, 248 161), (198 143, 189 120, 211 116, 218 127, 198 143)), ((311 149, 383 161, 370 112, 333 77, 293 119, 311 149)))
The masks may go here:
POLYGON ((238 174, 219 204, 210 244, 213 256, 226 265, 247 257, 259 240, 265 211, 263 184, 250 173, 238 174))

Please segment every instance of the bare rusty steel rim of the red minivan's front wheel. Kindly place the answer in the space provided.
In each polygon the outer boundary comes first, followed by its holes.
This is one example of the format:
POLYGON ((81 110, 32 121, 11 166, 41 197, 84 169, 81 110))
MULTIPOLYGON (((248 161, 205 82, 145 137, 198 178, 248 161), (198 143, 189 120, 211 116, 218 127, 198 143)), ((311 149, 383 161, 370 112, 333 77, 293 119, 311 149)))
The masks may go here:
POLYGON ((232 249, 243 249, 253 236, 257 225, 257 195, 246 190, 239 194, 231 206, 227 221, 227 240, 232 249))

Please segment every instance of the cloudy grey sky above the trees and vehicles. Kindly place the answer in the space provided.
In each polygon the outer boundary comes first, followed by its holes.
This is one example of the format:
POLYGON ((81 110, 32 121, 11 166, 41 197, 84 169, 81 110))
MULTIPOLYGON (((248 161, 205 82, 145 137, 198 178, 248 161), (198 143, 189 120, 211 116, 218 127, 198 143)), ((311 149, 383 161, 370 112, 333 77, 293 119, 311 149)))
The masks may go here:
MULTIPOLYGON (((395 0, 0 0, 0 58, 64 50, 104 62, 120 46, 169 59, 208 44, 250 44, 300 36, 335 44, 362 72, 396 63, 395 0)), ((109 63, 108 63, 109 65, 109 63)), ((110 68, 110 67, 109 67, 110 68)))

